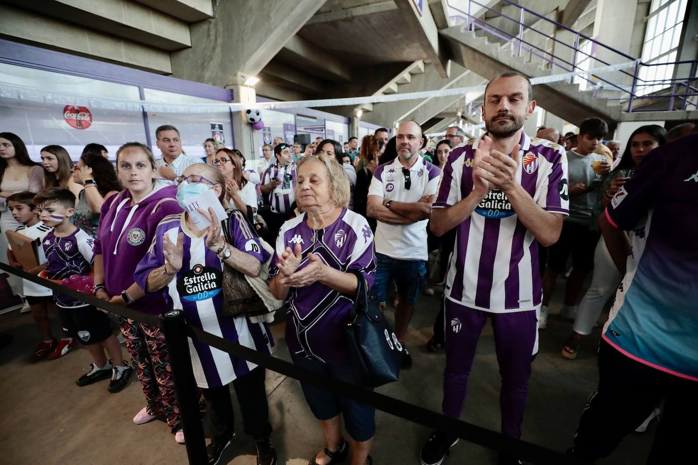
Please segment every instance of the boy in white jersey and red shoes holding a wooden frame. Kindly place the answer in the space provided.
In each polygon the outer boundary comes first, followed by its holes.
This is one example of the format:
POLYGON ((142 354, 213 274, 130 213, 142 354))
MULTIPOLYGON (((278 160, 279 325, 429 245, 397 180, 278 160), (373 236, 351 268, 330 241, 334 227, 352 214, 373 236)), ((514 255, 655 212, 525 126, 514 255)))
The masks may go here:
MULTIPOLYGON (((16 232, 22 234, 22 236, 27 236, 33 241, 41 241, 53 228, 47 226, 39 219, 38 208, 34 205, 34 195, 34 192, 29 190, 17 192, 7 198, 7 204, 13 218, 17 222, 22 223, 22 226, 18 227, 16 232)), ((34 275, 38 275, 41 273, 41 270, 46 268, 46 256, 43 252, 43 247, 37 247, 37 251, 38 266, 31 270, 25 270, 34 275)), ((15 258, 11 244, 8 244, 7 247, 7 258, 10 265, 22 268, 22 264, 15 258)), ((37 362, 42 358, 54 360, 64 356, 70 349, 73 349, 76 342, 72 337, 69 337, 64 332, 63 337, 58 341, 51 333, 51 322, 48 318, 48 309, 54 306, 51 289, 47 289, 40 284, 34 284, 31 281, 24 281, 24 296, 27 297, 27 303, 29 303, 29 308, 31 309, 31 317, 34 318, 36 327, 42 337, 42 341, 36 346, 34 353, 31 354, 31 361, 37 362)))

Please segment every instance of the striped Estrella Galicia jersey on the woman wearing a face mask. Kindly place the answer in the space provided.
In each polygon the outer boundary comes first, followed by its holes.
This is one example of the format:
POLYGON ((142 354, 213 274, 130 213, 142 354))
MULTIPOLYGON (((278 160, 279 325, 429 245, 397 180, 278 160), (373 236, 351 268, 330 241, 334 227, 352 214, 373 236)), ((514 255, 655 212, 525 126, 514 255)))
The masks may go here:
MULTIPOLYGON (((166 216, 158 224, 150 249, 135 270, 135 282, 141 289, 146 289, 149 273, 165 264, 163 238, 168 236, 170 241, 177 243, 180 232, 184 233, 181 269, 156 294, 165 299, 168 309, 183 310, 184 319, 191 326, 261 353, 272 353, 274 340, 267 323, 252 323, 248 317, 221 316, 223 261, 206 247, 206 235, 197 237, 186 226, 184 213, 166 216)), ((262 248, 259 238, 239 211, 230 218, 230 236, 233 239, 231 245, 238 250, 262 263, 269 259, 269 253, 262 248)), ((191 339, 189 352, 194 377, 200 388, 225 386, 257 366, 191 339)))

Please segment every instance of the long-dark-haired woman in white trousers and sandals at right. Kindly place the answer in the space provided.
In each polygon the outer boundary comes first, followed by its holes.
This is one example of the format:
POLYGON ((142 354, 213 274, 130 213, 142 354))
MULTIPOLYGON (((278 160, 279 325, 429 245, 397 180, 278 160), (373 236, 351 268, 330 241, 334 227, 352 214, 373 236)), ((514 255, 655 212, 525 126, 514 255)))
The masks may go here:
MULTIPOLYGON (((603 188, 599 190, 602 195, 594 205, 591 215, 594 221, 597 221, 599 216, 604 214, 609 201, 618 190, 621 190, 625 181, 628 181, 631 171, 638 167, 644 155, 668 141, 667 130, 659 125, 641 126, 632 132, 621 161, 607 176, 603 188)), ((563 345, 563 357, 570 360, 577 358, 582 337, 591 334, 604 304, 614 295, 622 278, 621 274, 618 273, 618 268, 611 260, 611 255, 602 236, 594 252, 594 272, 591 286, 579 303, 577 315, 574 317, 572 334, 567 337, 567 341, 563 345)))

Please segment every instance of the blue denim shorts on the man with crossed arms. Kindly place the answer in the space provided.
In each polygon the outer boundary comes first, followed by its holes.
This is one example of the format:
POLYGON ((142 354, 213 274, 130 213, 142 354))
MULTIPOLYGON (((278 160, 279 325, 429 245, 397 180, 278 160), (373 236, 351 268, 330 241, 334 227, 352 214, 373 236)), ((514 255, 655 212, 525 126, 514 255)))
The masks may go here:
POLYGON ((415 305, 425 277, 426 261, 394 259, 376 252, 376 281, 369 291, 369 298, 374 302, 385 302, 387 287, 394 278, 400 298, 405 299, 407 305, 415 305))

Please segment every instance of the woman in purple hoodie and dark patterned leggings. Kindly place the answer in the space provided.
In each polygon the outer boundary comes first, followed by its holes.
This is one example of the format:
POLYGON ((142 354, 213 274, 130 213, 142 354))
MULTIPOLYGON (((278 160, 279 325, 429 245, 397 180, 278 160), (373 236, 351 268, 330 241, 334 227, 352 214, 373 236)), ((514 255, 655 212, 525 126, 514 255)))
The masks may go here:
MULTIPOLYGON (((117 174, 124 190, 102 205, 94 243, 94 294, 159 315, 168 310, 164 301, 145 296, 133 273, 148 252, 158 222, 182 209, 174 198, 177 188, 157 182, 155 173, 155 159, 147 146, 128 142, 117 151, 117 174)), ((142 425, 163 415, 177 442, 184 443, 163 333, 132 319, 121 317, 119 323, 147 402, 133 422, 142 425)))

